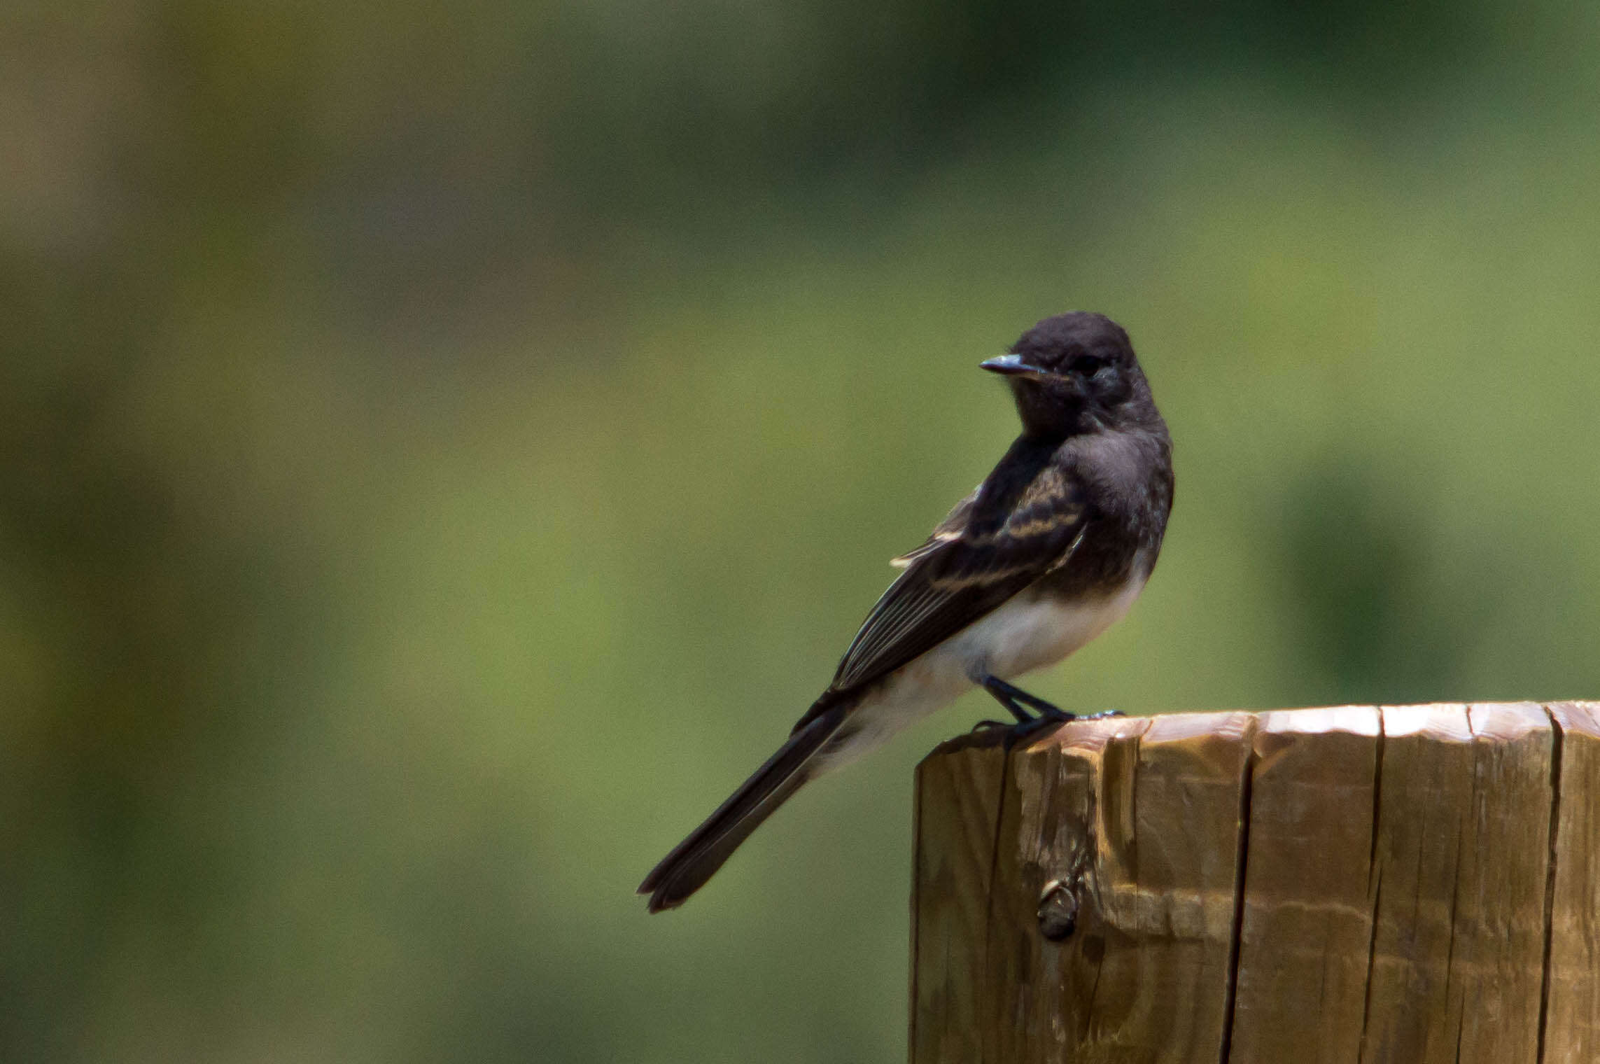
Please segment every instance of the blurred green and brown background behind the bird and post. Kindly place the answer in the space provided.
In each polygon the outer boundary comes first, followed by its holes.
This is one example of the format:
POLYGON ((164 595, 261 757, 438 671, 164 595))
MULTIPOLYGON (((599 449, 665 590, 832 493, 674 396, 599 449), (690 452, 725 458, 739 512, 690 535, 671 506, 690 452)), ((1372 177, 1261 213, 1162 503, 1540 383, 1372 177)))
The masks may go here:
POLYGON ((1030 686, 1600 696, 1600 8, 0 16, 0 1059, 904 1054, 910 774, 632 890, 1133 333, 1178 504, 1030 686))

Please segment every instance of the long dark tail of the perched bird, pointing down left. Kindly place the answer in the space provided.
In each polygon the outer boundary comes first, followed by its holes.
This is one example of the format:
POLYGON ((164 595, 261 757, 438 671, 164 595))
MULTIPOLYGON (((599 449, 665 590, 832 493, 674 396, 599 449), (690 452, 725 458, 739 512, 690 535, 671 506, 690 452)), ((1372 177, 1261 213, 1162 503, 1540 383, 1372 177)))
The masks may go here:
POLYGON ((661 859, 640 894, 650 894, 650 910, 674 909, 706 885, 750 832, 773 814, 789 795, 816 774, 813 757, 838 731, 848 706, 834 706, 813 717, 789 736, 766 763, 755 770, 733 795, 690 832, 690 837, 661 859))

